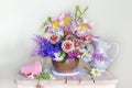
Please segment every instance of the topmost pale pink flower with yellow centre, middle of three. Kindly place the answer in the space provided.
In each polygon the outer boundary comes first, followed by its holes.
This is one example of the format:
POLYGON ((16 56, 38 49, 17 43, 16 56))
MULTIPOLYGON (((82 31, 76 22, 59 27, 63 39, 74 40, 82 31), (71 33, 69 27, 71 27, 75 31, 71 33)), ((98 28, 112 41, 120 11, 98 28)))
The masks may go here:
POLYGON ((66 26, 66 25, 70 25, 73 19, 70 13, 63 13, 59 20, 61 20, 61 25, 66 26))

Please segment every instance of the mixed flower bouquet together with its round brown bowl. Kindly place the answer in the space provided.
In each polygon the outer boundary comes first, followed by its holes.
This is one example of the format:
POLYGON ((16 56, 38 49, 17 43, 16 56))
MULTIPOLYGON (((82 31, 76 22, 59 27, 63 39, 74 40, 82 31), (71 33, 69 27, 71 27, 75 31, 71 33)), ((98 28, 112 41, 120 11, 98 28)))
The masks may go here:
POLYGON ((41 29, 42 34, 34 38, 37 46, 32 54, 43 58, 50 57, 61 73, 74 72, 79 59, 90 62, 94 53, 90 44, 94 23, 84 19, 88 7, 80 10, 77 6, 75 13, 65 12, 57 18, 48 16, 41 29))

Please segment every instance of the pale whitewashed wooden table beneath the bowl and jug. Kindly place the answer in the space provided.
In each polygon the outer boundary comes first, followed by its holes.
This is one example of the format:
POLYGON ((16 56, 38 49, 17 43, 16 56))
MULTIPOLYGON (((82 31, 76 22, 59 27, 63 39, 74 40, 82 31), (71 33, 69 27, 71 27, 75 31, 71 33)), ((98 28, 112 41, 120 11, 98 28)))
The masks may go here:
POLYGON ((100 77, 89 74, 76 76, 54 76, 55 79, 30 79, 19 75, 15 79, 16 88, 116 88, 118 79, 106 72, 100 77))

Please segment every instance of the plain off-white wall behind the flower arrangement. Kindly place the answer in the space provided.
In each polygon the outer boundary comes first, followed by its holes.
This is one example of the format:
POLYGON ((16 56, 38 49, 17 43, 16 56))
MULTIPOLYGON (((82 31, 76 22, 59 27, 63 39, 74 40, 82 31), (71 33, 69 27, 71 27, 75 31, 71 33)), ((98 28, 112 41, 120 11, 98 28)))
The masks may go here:
POLYGON ((132 88, 132 0, 0 0, 0 88, 15 87, 13 79, 34 47, 31 37, 45 18, 73 11, 76 4, 89 6, 96 35, 119 43, 110 70, 118 88, 132 88))

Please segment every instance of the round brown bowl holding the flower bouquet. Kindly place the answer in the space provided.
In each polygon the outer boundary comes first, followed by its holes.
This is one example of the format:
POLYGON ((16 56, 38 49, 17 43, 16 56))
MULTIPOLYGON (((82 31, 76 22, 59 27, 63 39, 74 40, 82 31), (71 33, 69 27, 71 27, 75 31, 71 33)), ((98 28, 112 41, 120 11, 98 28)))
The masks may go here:
POLYGON ((67 59, 65 63, 52 61, 52 63, 58 73, 67 74, 67 73, 74 73, 76 70, 79 59, 78 58, 74 58, 72 61, 67 59))

